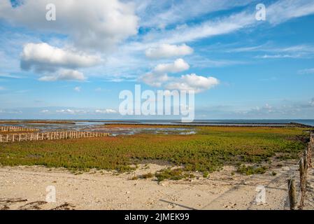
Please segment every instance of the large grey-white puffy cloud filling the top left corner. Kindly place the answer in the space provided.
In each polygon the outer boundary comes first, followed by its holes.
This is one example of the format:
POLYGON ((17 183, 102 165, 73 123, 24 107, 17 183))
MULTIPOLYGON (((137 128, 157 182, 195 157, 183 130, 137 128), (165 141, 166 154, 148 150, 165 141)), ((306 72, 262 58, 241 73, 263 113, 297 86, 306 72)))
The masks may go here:
POLYGON ((119 0, 66 1, 28 0, 13 7, 9 0, 0 1, 0 19, 31 29, 65 34, 76 48, 104 50, 137 34, 138 17, 134 3, 119 0), (46 6, 56 8, 56 20, 48 22, 46 6))

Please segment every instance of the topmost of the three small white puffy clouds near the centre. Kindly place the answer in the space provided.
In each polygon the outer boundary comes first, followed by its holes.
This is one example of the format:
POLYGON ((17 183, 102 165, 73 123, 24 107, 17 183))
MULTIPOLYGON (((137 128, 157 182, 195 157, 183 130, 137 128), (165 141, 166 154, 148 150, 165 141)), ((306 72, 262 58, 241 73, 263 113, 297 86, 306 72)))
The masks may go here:
POLYGON ((145 51, 146 57, 152 59, 160 59, 165 57, 178 57, 184 55, 191 55, 193 49, 183 43, 182 45, 161 44, 157 48, 148 48, 145 51))

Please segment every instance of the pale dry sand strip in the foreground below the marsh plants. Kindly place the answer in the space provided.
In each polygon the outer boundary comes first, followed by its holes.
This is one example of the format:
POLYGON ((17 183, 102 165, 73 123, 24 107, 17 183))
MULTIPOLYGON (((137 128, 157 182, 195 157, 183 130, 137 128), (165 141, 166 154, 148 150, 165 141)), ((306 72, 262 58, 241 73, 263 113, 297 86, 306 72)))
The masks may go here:
MULTIPOLYGON (((129 174, 75 175, 66 169, 0 167, 0 209, 288 209, 287 179, 298 173, 295 162, 286 162, 252 176, 231 175, 235 167, 227 166, 208 178, 195 173, 197 178, 190 180, 131 180, 163 168, 150 164, 129 174), (56 202, 45 202, 47 186, 55 186, 56 202), (257 186, 266 188, 264 204, 255 200, 257 186)), ((314 208, 306 203, 307 209, 314 208)))

